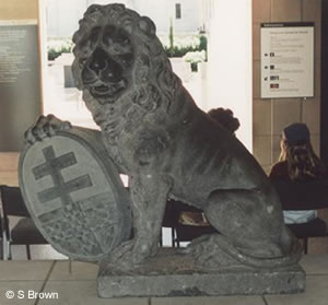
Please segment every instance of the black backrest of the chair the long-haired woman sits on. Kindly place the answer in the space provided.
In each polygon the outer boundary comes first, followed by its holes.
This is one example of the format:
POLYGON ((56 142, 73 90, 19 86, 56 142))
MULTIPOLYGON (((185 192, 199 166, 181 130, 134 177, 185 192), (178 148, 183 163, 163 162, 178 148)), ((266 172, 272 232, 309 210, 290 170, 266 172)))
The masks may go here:
POLYGON ((328 209, 328 180, 272 181, 283 210, 328 209))

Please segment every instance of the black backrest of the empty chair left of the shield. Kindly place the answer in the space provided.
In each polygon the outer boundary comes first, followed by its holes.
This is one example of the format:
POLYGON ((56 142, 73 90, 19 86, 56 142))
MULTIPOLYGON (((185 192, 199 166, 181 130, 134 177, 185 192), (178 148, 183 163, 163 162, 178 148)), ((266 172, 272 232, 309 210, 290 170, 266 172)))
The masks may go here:
POLYGON ((19 187, 0 186, 0 199, 4 220, 10 215, 30 218, 19 187))

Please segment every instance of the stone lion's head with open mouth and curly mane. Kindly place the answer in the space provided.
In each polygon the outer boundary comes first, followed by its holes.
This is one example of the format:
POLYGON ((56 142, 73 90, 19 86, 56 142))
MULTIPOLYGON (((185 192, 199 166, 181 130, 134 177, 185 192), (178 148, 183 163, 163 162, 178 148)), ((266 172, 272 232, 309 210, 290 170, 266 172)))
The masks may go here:
POLYGON ((73 43, 73 75, 84 99, 114 105, 124 97, 152 112, 168 107, 180 85, 154 23, 122 4, 91 5, 73 43))

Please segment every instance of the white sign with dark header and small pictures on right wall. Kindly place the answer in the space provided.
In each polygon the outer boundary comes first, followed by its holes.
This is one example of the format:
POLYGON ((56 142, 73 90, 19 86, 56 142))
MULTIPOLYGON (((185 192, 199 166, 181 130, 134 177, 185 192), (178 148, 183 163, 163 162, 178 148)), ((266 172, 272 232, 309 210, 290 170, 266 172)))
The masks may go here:
POLYGON ((261 98, 314 96, 314 23, 261 24, 261 98))

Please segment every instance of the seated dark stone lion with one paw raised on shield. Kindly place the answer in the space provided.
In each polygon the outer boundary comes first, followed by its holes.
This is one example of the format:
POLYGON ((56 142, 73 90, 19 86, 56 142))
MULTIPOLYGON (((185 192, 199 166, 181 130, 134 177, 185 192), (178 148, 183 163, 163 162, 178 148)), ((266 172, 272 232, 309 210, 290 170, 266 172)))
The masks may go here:
MULTIPOLYGON (((203 210, 221 234, 185 250, 201 265, 278 267, 300 259, 281 203, 244 145, 200 110, 173 72, 154 23, 122 4, 91 5, 73 36, 73 75, 108 156, 130 179, 133 238, 103 263, 133 268, 154 256, 167 199, 203 210)), ((31 143, 69 128, 40 117, 31 143)))

